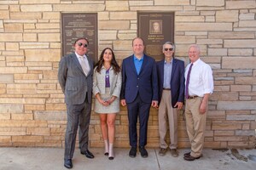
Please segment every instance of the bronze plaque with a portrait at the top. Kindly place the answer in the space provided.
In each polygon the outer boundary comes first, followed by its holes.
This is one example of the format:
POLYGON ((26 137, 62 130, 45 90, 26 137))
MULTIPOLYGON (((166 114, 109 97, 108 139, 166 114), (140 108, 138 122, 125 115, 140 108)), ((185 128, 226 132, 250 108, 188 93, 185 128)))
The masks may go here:
POLYGON ((145 54, 156 60, 163 59, 162 45, 174 42, 174 13, 141 12, 137 15, 138 37, 145 41, 145 54))

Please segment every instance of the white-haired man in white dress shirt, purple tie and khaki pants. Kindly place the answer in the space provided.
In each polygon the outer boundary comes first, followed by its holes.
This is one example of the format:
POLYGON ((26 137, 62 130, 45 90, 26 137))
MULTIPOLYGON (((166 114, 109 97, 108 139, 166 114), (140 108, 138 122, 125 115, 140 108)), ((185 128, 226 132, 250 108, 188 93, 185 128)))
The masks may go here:
POLYGON ((191 63, 185 70, 185 116, 191 144, 191 151, 184 154, 184 160, 194 161, 201 157, 206 129, 208 99, 213 92, 213 77, 210 65, 200 59, 200 48, 189 46, 191 63))

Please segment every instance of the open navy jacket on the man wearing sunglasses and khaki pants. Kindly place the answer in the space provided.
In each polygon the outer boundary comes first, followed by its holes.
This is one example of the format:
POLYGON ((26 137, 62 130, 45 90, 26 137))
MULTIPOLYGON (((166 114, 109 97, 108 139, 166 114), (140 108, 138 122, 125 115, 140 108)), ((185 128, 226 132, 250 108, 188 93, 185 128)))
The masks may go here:
MULTIPOLYGON (((164 65, 165 59, 157 62, 157 74, 158 74, 158 87, 159 87, 159 105, 160 99, 163 93, 164 84, 164 65)), ((172 77, 171 77, 171 93, 172 93, 172 107, 178 102, 184 102, 184 62, 180 59, 172 59, 172 77)))

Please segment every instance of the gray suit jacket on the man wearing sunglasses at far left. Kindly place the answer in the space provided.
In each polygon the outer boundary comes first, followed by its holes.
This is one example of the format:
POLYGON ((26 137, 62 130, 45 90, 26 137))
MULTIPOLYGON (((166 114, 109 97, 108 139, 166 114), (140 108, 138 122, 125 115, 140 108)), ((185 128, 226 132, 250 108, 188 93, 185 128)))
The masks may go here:
POLYGON ((91 103, 93 61, 87 57, 90 72, 86 77, 76 54, 68 54, 61 58, 59 63, 58 79, 67 105, 80 105, 84 102, 86 94, 91 103))

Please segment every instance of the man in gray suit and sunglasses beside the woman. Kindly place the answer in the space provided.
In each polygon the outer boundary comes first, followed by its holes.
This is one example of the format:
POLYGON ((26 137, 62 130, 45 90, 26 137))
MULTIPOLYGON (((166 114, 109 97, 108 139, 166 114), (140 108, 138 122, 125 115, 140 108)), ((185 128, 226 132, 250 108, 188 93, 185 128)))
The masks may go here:
POLYGON ((67 131, 65 137, 64 166, 72 168, 76 134, 79 127, 81 154, 94 158, 88 150, 93 61, 87 53, 89 42, 79 38, 74 42, 75 53, 61 58, 58 79, 67 104, 67 131))

